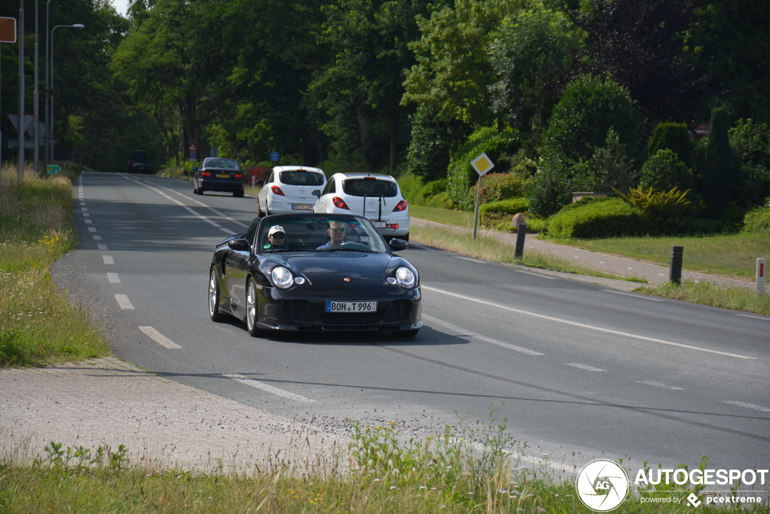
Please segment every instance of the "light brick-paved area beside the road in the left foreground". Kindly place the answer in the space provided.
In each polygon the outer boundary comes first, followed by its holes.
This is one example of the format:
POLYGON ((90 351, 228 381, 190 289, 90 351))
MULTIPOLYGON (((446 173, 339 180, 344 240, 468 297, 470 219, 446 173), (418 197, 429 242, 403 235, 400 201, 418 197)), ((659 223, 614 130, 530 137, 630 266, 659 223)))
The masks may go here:
POLYGON ((0 460, 46 455, 51 441, 64 448, 123 444, 133 462, 150 468, 201 470, 220 463, 226 470, 261 467, 268 458, 304 468, 347 446, 343 433, 293 423, 116 358, 0 370, 0 460))

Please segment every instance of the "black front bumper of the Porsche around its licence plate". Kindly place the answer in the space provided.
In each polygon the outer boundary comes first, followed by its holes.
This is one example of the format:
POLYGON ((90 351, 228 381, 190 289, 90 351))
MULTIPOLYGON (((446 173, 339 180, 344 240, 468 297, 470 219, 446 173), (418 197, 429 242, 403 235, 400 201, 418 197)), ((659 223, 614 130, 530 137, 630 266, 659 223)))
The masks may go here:
POLYGON ((400 331, 422 326, 420 287, 294 286, 259 291, 259 328, 275 331, 400 331), (330 313, 326 301, 377 301, 376 312, 330 313))

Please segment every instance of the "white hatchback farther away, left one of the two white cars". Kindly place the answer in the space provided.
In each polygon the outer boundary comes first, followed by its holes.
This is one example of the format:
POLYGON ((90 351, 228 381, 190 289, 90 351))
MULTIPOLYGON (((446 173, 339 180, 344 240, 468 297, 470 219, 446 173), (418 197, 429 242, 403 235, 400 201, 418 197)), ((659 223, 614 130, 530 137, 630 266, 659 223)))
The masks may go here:
POLYGON ((306 166, 276 166, 259 191, 259 216, 313 211, 316 197, 314 190, 326 186, 323 170, 306 166))

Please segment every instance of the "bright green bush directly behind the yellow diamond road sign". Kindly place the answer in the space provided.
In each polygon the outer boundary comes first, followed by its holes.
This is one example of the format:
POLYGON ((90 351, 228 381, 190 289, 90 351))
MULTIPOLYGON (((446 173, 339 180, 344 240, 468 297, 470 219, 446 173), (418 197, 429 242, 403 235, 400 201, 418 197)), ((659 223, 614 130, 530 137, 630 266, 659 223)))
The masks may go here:
MULTIPOLYGON (((478 129, 468 137, 467 143, 460 146, 457 152, 452 156, 447 175, 447 193, 449 193, 452 203, 460 207, 461 210, 472 210, 476 198, 468 200, 468 191, 478 181, 478 174, 470 166, 470 161, 480 153, 487 153, 487 156, 497 166, 498 171, 507 171, 507 163, 500 159, 502 154, 512 154, 521 146, 522 136, 515 133, 513 129, 505 129, 498 133, 493 127, 484 127, 478 129)), ((483 188, 482 188, 483 190, 483 188)))

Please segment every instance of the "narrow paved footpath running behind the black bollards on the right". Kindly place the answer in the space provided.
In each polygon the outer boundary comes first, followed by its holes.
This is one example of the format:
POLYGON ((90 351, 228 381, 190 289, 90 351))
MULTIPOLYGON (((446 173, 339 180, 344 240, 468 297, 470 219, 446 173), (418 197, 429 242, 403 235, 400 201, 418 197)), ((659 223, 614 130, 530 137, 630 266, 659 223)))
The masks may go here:
MULTIPOLYGON (((465 227, 452 227, 450 225, 444 225, 434 221, 420 220, 420 218, 410 218, 410 223, 417 227, 442 227, 457 230, 458 232, 470 232, 471 230, 465 227)), ((479 230, 479 233, 484 233, 486 236, 495 237, 501 241, 504 241, 505 243, 516 244, 517 234, 515 233, 495 232, 493 230, 479 230)), ((659 284, 661 282, 668 281, 668 267, 658 266, 657 264, 649 264, 642 262, 641 260, 631 259, 628 257, 614 257, 608 254, 600 254, 598 252, 591 252, 588 250, 579 250, 577 248, 567 247, 562 244, 554 244, 548 243, 547 241, 537 240, 535 237, 536 234, 527 234, 524 243, 525 252, 528 249, 537 250, 542 254, 551 254, 555 257, 561 257, 562 259, 570 260, 574 264, 578 264, 582 267, 588 267, 592 270, 620 275, 621 277, 644 278, 648 281, 649 284, 659 284)), ((686 262, 687 248, 685 248, 685 265, 686 262)), ((682 271, 682 278, 685 280, 693 281, 708 281, 715 284, 734 287, 756 287, 754 282, 738 281, 732 278, 694 273, 692 271, 682 271)))

